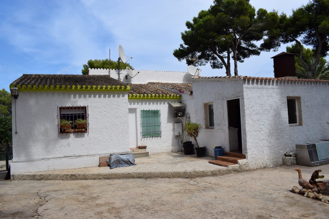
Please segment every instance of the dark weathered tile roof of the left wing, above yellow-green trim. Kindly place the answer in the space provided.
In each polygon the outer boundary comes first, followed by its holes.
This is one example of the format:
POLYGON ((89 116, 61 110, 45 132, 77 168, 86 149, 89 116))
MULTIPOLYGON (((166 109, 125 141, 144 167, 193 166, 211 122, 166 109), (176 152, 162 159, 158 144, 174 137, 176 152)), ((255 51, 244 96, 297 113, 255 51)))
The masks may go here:
POLYGON ((28 75, 24 74, 12 83, 13 86, 126 86, 109 75, 28 75))

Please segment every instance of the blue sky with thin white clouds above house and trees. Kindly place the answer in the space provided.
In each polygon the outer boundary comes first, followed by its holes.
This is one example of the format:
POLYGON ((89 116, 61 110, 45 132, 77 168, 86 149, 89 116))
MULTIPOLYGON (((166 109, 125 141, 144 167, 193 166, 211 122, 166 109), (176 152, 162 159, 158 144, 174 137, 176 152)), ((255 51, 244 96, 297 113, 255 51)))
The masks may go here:
MULTIPOLYGON (((251 0, 256 8, 287 14, 308 0, 251 0)), ((173 50, 182 43, 185 22, 212 0, 53 0, 0 1, 0 89, 22 74, 81 74, 89 59, 118 58, 121 44, 137 70, 187 71, 173 50)), ((273 77, 263 52, 238 63, 239 75, 273 77)), ((233 62, 232 72, 233 72, 233 62)), ((224 69, 202 66, 202 76, 224 76, 224 69)))

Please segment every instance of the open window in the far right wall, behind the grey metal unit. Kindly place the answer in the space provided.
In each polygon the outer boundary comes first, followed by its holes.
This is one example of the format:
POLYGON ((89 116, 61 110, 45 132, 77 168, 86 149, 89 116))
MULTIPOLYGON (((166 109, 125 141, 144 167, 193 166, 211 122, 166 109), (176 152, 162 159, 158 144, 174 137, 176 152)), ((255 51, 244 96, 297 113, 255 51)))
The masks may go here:
POLYGON ((287 97, 288 124, 302 125, 300 97, 287 97))

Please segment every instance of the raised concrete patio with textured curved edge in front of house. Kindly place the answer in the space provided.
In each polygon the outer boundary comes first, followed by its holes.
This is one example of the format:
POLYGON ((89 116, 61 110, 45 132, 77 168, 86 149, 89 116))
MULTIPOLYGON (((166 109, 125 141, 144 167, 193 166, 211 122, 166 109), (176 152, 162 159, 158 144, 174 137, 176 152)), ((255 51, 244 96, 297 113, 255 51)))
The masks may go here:
POLYGON ((12 175, 12 180, 82 180, 121 178, 187 178, 217 176, 245 171, 243 165, 222 167, 208 163, 213 157, 196 157, 183 153, 151 154, 149 157, 135 158, 134 166, 85 167, 76 169, 50 170, 12 175))

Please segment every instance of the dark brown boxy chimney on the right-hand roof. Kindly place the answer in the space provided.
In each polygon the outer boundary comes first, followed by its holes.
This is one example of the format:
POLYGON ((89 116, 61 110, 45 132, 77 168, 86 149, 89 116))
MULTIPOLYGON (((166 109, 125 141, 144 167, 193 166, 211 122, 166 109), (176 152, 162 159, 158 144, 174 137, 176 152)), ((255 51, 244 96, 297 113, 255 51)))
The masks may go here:
POLYGON ((282 52, 273 58, 274 77, 296 77, 295 55, 282 52))

